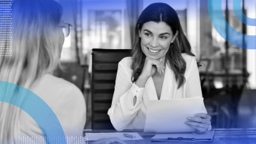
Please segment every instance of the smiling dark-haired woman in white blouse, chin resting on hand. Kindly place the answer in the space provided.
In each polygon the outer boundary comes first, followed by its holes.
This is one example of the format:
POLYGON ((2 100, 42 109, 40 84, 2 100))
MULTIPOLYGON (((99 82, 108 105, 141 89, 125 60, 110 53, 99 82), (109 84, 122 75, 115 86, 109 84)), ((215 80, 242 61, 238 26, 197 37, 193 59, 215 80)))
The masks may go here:
MULTIPOLYGON (((118 131, 144 129, 150 100, 201 97, 198 65, 174 9, 149 5, 136 23, 132 57, 120 61, 110 120, 118 131)), ((211 129, 210 115, 188 117, 186 124, 203 133, 211 129)))

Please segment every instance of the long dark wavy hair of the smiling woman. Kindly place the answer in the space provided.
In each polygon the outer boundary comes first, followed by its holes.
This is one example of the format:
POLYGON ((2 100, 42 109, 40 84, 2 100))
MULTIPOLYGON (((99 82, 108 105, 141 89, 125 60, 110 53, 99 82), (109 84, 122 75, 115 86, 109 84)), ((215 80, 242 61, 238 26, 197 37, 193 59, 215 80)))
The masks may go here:
POLYGON ((139 37, 139 30, 146 22, 165 22, 173 34, 177 31, 179 32, 176 39, 169 46, 169 50, 166 53, 166 60, 168 67, 170 67, 175 74, 175 79, 178 82, 178 89, 185 83, 186 79, 184 73, 186 71, 186 61, 182 58, 181 53, 186 53, 191 56, 195 56, 191 52, 191 45, 186 39, 183 30, 181 29, 181 24, 179 22, 178 15, 174 9, 168 4, 164 3, 154 3, 146 7, 136 23, 135 28, 135 41, 132 48, 132 81, 136 81, 143 70, 143 65, 146 59, 141 50, 141 38, 139 37))

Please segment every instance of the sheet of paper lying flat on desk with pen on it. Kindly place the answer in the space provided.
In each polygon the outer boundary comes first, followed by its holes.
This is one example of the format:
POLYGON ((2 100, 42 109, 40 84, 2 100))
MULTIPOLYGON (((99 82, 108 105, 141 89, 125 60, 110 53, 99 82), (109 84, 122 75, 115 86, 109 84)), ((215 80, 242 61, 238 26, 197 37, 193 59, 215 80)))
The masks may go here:
POLYGON ((99 140, 101 138, 119 138, 121 140, 143 140, 139 133, 127 133, 129 135, 135 136, 136 138, 127 138, 123 135, 124 133, 85 133, 85 137, 88 140, 99 140))

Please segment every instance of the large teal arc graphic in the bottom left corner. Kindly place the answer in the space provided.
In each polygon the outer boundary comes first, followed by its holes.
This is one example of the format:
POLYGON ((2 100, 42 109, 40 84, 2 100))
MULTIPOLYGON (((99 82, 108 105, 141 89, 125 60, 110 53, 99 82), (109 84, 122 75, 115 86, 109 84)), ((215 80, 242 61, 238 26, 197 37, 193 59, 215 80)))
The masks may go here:
MULTIPOLYGON (((67 143, 56 114, 32 91, 17 84, 0 81, 0 101, 15 105, 27 112, 37 122, 45 138, 60 137, 63 138, 63 144, 67 143)), ((47 140, 46 143, 49 141, 47 140)))

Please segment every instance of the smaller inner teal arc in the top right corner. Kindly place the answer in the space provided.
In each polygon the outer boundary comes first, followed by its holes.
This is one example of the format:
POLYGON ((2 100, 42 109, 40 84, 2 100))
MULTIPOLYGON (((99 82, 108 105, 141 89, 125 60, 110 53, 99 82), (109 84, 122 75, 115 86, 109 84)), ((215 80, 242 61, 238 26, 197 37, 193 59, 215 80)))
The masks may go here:
POLYGON ((242 0, 233 0, 233 11, 236 14, 236 17, 246 25, 256 26, 256 19, 248 18, 241 10, 241 1, 242 0), (238 15, 242 15, 242 17, 239 17, 238 15))

